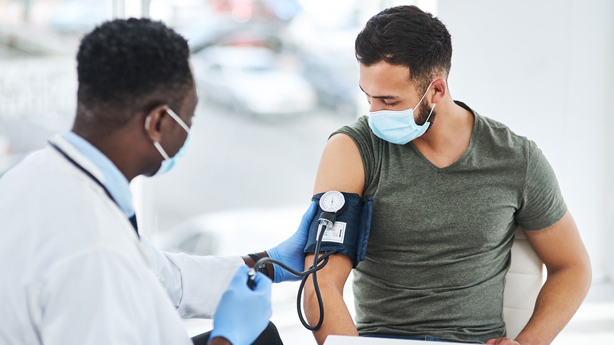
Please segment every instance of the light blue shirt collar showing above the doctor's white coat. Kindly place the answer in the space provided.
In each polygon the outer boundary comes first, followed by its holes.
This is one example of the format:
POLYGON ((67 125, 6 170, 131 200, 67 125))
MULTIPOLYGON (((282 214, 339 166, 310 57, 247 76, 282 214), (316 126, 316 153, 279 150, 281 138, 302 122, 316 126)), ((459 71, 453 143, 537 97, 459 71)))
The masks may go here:
POLYGON ((132 193, 130 192, 130 182, 126 176, 122 174, 117 166, 113 164, 104 153, 100 152, 96 147, 81 138, 72 131, 62 134, 62 138, 68 141, 82 155, 87 157, 96 168, 102 172, 104 181, 101 181, 104 187, 109 190, 117 205, 122 209, 126 217, 130 218, 134 215, 134 207, 132 206, 132 193))

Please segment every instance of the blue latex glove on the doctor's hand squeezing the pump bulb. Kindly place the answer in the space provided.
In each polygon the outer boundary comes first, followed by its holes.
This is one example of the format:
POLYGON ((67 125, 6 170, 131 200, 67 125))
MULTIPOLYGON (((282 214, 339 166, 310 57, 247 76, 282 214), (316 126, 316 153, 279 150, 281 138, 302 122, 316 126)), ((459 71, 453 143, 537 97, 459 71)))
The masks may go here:
POLYGON ((269 323, 271 314, 271 279, 257 273, 254 290, 247 287, 247 266, 235 273, 222 295, 213 317, 211 341, 216 336, 228 339, 233 345, 254 343, 269 323))

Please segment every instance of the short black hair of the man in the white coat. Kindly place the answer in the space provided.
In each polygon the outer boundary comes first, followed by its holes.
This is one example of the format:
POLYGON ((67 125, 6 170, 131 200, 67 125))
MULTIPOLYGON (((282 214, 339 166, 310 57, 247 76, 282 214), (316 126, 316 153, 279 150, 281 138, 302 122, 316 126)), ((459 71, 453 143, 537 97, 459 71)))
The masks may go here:
MULTIPOLYGON (((184 37, 161 21, 106 21, 82 39, 77 52, 79 106, 134 111, 139 100, 160 93, 177 108, 193 85, 189 55, 184 37)), ((121 125, 130 118, 106 120, 121 125)))

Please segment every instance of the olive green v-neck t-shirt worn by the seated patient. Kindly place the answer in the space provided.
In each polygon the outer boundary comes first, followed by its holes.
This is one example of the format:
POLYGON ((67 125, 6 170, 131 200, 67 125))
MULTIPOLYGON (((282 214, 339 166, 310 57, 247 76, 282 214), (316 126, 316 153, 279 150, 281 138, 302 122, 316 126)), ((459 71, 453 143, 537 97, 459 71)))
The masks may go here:
MULTIPOLYGON (((505 334, 503 284, 517 227, 540 230, 567 212, 540 149, 475 116, 467 150, 438 168, 416 147, 376 137, 367 117, 348 134, 373 196, 367 258, 354 271, 360 335, 460 342, 505 334)), ((334 133, 333 133, 334 134, 334 133)))

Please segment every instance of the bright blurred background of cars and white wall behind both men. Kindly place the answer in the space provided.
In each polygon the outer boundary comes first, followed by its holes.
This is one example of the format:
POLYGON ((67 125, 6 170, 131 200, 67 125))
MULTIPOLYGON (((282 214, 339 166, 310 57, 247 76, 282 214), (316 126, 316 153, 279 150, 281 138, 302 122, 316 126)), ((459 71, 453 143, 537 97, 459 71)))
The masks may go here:
MULTIPOLYGON (((0 0, 0 175, 69 130, 85 33, 115 17, 163 20, 188 39, 200 103, 187 156, 131 185, 139 230, 161 249, 192 254, 273 247, 298 226, 330 133, 368 111, 356 34, 399 4, 448 27, 454 99, 537 142, 558 176, 593 287, 554 344, 611 343, 612 1, 0 0)), ((297 288, 274 286, 272 320, 287 344, 314 344, 296 315, 297 288)), ((211 328, 185 324, 190 335, 211 328)))

